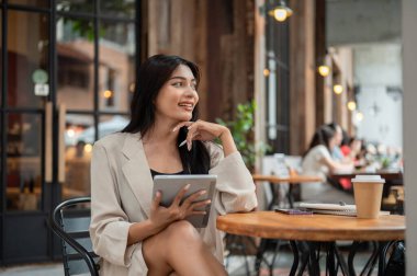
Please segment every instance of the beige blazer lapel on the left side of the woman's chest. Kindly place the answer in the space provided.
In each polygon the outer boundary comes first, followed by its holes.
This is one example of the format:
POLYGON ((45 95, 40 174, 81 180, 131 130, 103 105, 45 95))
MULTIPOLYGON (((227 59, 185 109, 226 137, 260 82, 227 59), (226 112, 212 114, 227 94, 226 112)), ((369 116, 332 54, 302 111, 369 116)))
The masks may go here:
POLYGON ((122 171, 133 194, 139 202, 145 214, 149 217, 154 181, 146 160, 140 135, 128 135, 123 146, 123 154, 128 159, 122 171))

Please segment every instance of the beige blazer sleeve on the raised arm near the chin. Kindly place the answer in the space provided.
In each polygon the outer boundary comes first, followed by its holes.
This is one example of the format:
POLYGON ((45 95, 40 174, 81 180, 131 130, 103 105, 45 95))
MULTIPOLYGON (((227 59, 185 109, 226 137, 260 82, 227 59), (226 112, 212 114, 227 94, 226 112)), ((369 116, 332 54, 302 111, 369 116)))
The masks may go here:
POLYGON ((239 152, 224 158, 222 147, 210 143, 210 174, 217 175, 215 208, 219 215, 250 211, 258 206, 252 176, 239 152))

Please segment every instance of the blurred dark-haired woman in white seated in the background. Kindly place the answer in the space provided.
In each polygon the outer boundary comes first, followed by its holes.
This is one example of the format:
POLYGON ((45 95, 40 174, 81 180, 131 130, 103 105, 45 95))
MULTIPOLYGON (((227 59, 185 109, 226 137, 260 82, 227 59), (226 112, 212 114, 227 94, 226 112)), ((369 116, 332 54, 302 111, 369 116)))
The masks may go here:
POLYGON ((322 183, 307 183, 302 187, 302 199, 305 202, 353 204, 352 195, 338 189, 327 182, 327 176, 337 170, 353 170, 351 163, 340 163, 331 158, 331 149, 338 143, 336 131, 329 126, 319 127, 313 136, 308 150, 304 153, 303 174, 316 175, 322 183))

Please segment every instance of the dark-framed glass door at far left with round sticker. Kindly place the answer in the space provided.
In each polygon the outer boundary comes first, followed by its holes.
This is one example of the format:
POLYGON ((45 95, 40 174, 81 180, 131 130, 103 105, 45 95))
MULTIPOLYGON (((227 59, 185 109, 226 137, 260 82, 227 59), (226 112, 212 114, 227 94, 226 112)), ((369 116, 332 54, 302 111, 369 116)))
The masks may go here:
POLYGON ((2 4, 1 262, 48 258, 45 105, 50 99, 47 4, 2 4))

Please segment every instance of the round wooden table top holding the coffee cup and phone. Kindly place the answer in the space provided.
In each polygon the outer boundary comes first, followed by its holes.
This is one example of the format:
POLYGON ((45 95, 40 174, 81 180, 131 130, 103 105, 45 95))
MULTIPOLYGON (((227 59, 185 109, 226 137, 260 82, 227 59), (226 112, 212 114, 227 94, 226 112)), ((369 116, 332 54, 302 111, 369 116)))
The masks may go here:
POLYGON ((391 241, 405 239, 405 217, 376 219, 331 215, 285 215, 274 211, 228 214, 217 229, 233 234, 301 241, 391 241))

